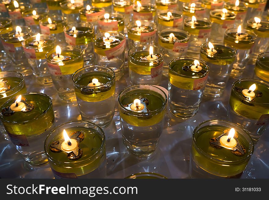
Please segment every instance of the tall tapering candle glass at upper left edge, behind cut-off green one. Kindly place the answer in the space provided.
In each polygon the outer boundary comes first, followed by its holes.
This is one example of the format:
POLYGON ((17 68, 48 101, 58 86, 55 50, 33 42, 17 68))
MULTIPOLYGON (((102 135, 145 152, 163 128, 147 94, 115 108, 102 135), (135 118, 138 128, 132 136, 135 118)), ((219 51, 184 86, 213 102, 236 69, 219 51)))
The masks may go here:
POLYGON ((20 28, 22 31, 18 34, 16 27, 7 27, 0 31, 0 37, 2 38, 2 45, 7 57, 15 64, 13 70, 23 75, 29 75, 28 60, 24 54, 21 42, 31 36, 31 28, 27 26, 20 26, 20 28))

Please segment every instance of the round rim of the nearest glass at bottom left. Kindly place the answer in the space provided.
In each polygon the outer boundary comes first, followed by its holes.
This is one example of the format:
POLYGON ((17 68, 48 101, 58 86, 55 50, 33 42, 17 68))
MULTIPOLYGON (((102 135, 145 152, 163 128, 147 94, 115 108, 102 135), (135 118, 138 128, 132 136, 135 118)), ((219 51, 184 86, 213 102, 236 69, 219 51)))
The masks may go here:
MULTIPOLYGON (((87 122, 87 121, 69 121, 69 122, 65 122, 65 123, 63 123, 63 124, 61 124, 61 125, 58 125, 58 126, 56 126, 55 128, 53 128, 51 131, 50 131, 50 133, 46 136, 46 139, 45 139, 45 142, 44 142, 44 150, 45 150, 45 154, 46 154, 46 156, 48 157, 48 159, 50 159, 51 161, 54 161, 54 162, 56 162, 57 164, 58 163, 60 163, 59 161, 57 161, 56 159, 54 159, 54 158, 52 158, 49 154, 48 154, 48 152, 47 152, 47 148, 46 148, 46 144, 47 144, 47 142, 48 142, 48 139, 49 139, 49 137, 52 135, 52 133, 54 133, 55 131, 57 131, 58 129, 60 129, 60 128, 62 128, 62 127, 64 127, 65 125, 71 125, 71 124, 90 124, 90 125, 93 125, 93 126, 95 126, 95 127, 97 127, 98 129, 100 129, 100 131, 97 131, 99 134, 101 134, 102 136, 103 136, 103 138, 102 138, 102 144, 101 144, 101 146, 98 148, 98 150, 93 154, 93 155, 91 155, 89 158, 87 158, 86 160, 81 160, 81 161, 76 161, 75 163, 83 163, 83 162, 88 162, 90 159, 92 159, 92 158, 95 158, 95 156, 99 153, 99 152, 101 152, 101 150, 104 148, 104 146, 105 146, 105 132, 104 132, 104 130, 99 126, 99 125, 97 125, 97 124, 95 124, 95 123, 93 123, 93 122, 87 122), (101 133, 100 133, 101 132, 101 133)), ((84 127, 84 126, 83 126, 84 127)), ((48 145, 49 145, 49 143, 48 143, 48 145)), ((49 146, 48 146, 49 147, 49 146)), ((61 162, 62 163, 62 162, 61 162)), ((73 164, 74 162, 63 162, 64 164, 73 164)))

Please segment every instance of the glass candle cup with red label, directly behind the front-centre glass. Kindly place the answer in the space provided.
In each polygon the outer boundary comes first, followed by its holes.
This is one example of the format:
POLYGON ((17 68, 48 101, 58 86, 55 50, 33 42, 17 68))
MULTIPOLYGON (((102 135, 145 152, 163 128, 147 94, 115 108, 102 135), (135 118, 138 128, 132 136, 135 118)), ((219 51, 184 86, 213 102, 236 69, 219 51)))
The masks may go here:
POLYGON ((164 51, 157 46, 139 45, 128 51, 129 77, 132 85, 160 85, 164 51), (152 57, 150 49, 153 49, 152 57))

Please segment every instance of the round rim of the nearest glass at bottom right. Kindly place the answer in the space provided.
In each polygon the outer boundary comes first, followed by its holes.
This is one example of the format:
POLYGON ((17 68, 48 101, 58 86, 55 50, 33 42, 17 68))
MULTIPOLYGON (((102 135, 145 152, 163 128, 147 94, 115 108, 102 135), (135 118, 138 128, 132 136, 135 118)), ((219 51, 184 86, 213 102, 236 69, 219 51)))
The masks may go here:
MULTIPOLYGON (((242 135, 242 134, 241 134, 241 135, 242 135)), ((242 136, 244 136, 244 135, 242 135, 242 136)), ((227 120, 210 119, 210 120, 206 120, 206 121, 204 121, 204 122, 201 122, 201 123, 198 124, 198 125, 195 127, 195 129, 193 130, 192 141, 193 141, 195 150, 196 150, 200 155, 202 155, 203 157, 209 158, 210 160, 212 160, 212 161, 214 161, 214 162, 217 162, 217 163, 227 163, 227 164, 233 163, 233 164, 236 165, 236 164, 238 164, 238 163, 241 163, 242 161, 245 162, 245 161, 249 160, 249 159, 251 158, 253 152, 254 152, 254 143, 253 143, 253 141, 252 141, 252 138, 249 136, 249 134, 248 134, 244 129, 242 129, 240 126, 238 126, 237 124, 234 124, 234 123, 229 122, 229 121, 227 121, 227 120), (199 146, 197 145, 197 142, 196 142, 196 140, 195 140, 195 138, 194 138, 194 134, 197 132, 197 130, 200 129, 201 125, 204 125, 204 124, 206 124, 206 123, 208 123, 208 122, 224 122, 224 123, 226 123, 226 124, 232 124, 232 125, 235 126, 236 128, 240 129, 240 130, 241 130, 241 133, 245 133, 245 135, 249 137, 249 140, 251 141, 251 144, 252 144, 252 145, 250 144, 250 146, 252 147, 252 150, 249 152, 249 155, 247 155, 245 158, 240 159, 240 160, 238 160, 238 161, 223 161, 223 160, 221 161, 221 160, 219 160, 219 159, 217 159, 217 158, 212 158, 212 157, 211 157, 210 155, 208 155, 205 151, 202 151, 202 150, 199 148, 199 146)))

